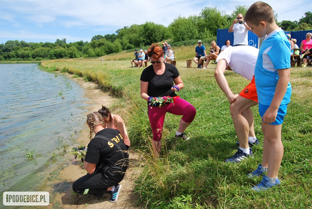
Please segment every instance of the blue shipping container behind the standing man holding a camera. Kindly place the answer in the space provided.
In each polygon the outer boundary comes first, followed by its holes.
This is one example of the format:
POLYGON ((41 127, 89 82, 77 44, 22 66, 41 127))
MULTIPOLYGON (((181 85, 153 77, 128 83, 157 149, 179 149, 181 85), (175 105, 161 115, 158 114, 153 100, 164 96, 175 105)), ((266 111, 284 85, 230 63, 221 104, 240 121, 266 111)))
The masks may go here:
MULTIPOLYGON (((226 40, 230 40, 231 46, 233 46, 234 42, 234 33, 228 32, 227 29, 217 29, 217 45, 221 48, 225 45, 226 40)), ((248 45, 258 48, 258 37, 251 31, 248 31, 248 45)))

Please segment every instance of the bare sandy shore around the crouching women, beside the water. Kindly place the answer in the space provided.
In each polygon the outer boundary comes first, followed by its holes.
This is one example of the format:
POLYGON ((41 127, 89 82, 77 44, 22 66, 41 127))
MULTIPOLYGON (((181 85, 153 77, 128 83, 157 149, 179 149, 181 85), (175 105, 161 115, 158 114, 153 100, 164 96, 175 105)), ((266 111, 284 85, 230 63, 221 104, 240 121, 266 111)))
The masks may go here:
MULTIPOLYGON (((99 110, 102 104, 109 107, 112 102, 117 100, 111 97, 108 92, 101 90, 93 82, 85 82, 81 77, 73 78, 71 74, 66 75, 75 80, 84 89, 85 97, 89 99, 87 103, 90 104, 86 107, 88 110, 86 114, 99 110)), ((87 146, 90 141, 89 131, 90 129, 85 124, 77 142, 87 146)), ((109 194, 104 194, 99 199, 92 195, 79 195, 73 192, 73 182, 84 176, 87 172, 83 168, 81 161, 76 160, 73 164, 73 161, 69 160, 54 170, 53 175, 55 177, 53 181, 46 180, 45 188, 42 191, 50 192, 51 203, 48 208, 138 208, 135 206, 138 195, 134 194, 133 191, 134 178, 139 173, 138 156, 136 153, 130 151, 129 159, 130 166, 127 169, 124 179, 120 182, 122 191, 116 203, 108 201, 110 198, 109 194)))

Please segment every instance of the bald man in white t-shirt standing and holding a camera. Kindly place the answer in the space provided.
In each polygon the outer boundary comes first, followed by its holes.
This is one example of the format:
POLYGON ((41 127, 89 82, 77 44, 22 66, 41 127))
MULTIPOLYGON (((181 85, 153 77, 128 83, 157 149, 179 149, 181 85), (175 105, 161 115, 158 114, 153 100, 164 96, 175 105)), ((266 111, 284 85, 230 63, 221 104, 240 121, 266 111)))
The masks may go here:
POLYGON ((244 22, 243 15, 238 14, 228 31, 234 32, 233 46, 248 45, 248 31, 250 30, 251 28, 244 22))

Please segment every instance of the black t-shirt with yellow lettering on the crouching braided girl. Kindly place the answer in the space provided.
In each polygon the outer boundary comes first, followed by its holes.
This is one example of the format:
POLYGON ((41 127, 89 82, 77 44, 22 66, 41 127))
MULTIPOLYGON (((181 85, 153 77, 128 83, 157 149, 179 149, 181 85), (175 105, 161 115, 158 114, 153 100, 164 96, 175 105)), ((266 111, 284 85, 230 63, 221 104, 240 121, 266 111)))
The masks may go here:
MULTIPOLYGON (((95 136, 98 135, 114 140, 121 149, 127 150, 118 130, 105 128, 97 132, 95 136)), ((103 165, 121 167, 124 157, 129 158, 128 153, 119 151, 118 147, 112 142, 108 142, 102 138, 93 138, 88 144, 85 162, 96 164, 95 171, 97 171, 101 167, 104 167, 103 165)))

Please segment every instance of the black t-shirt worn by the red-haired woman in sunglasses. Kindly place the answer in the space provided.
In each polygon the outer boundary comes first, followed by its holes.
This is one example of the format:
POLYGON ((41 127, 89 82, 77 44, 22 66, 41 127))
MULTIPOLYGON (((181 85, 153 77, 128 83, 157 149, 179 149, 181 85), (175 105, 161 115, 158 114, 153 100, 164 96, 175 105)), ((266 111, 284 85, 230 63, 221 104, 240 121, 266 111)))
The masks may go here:
POLYGON ((146 67, 141 74, 141 81, 149 82, 147 94, 149 97, 175 97, 175 91, 171 90, 173 86, 173 79, 177 78, 180 73, 178 69, 169 63, 165 64, 165 72, 162 75, 157 75, 154 71, 153 65, 146 67))

